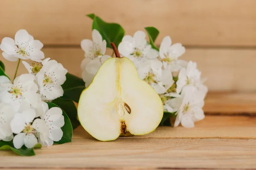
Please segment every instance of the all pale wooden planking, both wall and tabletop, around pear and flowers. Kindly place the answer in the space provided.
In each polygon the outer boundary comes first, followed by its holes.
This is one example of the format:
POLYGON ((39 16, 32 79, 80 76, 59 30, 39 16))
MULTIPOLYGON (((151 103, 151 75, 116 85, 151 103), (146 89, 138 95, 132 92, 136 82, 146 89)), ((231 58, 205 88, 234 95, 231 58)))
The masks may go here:
MULTIPOLYGON (((192 129, 158 127, 113 142, 96 141, 78 127, 73 142, 36 150, 37 156, 1 151, 0 169, 256 168, 256 0, 0 0, 0 39, 26 29, 44 43, 45 57, 80 77, 90 13, 120 23, 126 34, 154 26, 157 45, 166 35, 181 42, 181 59, 198 62, 207 77, 206 118, 192 129)), ((13 77, 17 63, 0 60, 13 77)), ((23 65, 19 71, 26 72, 23 65)))

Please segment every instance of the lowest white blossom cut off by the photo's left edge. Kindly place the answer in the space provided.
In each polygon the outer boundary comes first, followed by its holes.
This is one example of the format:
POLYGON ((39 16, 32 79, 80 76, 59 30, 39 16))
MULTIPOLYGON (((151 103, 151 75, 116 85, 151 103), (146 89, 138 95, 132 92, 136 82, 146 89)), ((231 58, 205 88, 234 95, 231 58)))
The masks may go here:
POLYGON ((15 112, 11 105, 0 103, 0 140, 11 141, 13 139, 10 123, 14 115, 15 112))

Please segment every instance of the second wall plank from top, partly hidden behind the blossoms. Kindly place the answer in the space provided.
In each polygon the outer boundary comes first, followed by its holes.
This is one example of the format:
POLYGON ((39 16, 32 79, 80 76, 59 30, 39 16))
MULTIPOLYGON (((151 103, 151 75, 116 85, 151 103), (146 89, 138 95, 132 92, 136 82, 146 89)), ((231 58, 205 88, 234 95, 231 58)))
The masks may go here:
MULTIPOLYGON (((84 59, 81 48, 43 48, 45 57, 56 59, 67 70, 81 77, 80 63, 84 59)), ((107 54, 111 55, 111 49, 107 54)), ((202 77, 207 77, 206 85, 210 91, 238 91, 251 92, 256 89, 256 50, 253 49, 215 49, 215 48, 188 48, 180 59, 192 60, 198 63, 202 77)), ((6 73, 13 77, 16 62, 3 60, 6 73)), ((19 73, 26 69, 20 66, 19 73)))

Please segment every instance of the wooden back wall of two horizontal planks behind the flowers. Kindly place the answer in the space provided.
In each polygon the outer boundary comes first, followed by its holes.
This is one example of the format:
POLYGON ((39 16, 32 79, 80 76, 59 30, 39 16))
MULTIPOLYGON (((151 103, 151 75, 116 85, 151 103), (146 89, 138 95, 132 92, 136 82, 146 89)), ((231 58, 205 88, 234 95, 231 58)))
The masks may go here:
MULTIPOLYGON (((181 42, 185 60, 198 62, 210 91, 256 91, 255 0, 1 0, 0 39, 26 29, 44 43, 45 57, 81 77, 82 39, 91 39, 95 13, 120 23, 126 34, 146 26, 181 42)), ((108 54, 111 54, 109 51, 108 54)), ((1 57, 3 59, 3 57, 1 57)), ((16 63, 7 62, 12 77, 16 63)), ((23 65, 19 73, 23 73, 23 65)))

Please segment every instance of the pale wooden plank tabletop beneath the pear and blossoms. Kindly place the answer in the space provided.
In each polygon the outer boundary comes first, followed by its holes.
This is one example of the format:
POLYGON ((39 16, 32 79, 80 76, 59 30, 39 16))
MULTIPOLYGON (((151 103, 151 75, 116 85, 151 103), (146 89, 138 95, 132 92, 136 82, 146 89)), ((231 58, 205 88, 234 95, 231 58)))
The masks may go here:
POLYGON ((256 168, 256 94, 209 94, 205 119, 195 127, 158 127, 145 136, 112 142, 93 139, 82 127, 73 142, 22 157, 0 152, 0 169, 252 169, 256 168))

